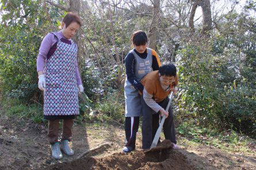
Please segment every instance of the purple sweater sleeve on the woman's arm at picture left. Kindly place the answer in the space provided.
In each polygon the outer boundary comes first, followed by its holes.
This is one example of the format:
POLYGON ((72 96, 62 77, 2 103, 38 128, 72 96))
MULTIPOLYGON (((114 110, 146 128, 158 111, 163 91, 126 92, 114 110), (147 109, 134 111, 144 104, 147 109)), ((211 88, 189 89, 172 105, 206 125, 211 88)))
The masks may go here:
POLYGON ((54 40, 54 34, 49 33, 44 37, 43 41, 41 42, 41 46, 39 48, 39 54, 36 60, 37 72, 44 70, 45 60, 47 59, 47 54, 51 49, 53 40, 54 40))

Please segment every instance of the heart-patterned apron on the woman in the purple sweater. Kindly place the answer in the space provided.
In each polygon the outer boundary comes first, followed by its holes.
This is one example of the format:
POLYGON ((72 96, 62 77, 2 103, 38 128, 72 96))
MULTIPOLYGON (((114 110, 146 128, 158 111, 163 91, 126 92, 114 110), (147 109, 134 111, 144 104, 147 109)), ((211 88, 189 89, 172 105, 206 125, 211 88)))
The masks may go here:
MULTIPOLYGON (((56 34, 55 34, 55 37, 56 34)), ((57 37, 58 38, 58 37, 57 37)), ((57 49, 45 64, 44 115, 64 116, 79 114, 78 89, 75 78, 77 45, 58 38, 57 49)))

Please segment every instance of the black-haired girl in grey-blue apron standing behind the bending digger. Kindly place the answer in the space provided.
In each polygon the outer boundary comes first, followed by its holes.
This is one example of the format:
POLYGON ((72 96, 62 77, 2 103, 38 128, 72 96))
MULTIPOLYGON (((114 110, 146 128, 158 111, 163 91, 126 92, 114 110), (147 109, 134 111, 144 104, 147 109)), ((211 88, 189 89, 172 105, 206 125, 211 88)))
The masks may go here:
POLYGON ((152 70, 158 70, 161 62, 155 50, 147 48, 147 35, 144 31, 132 34, 134 49, 125 57, 125 72, 127 74, 124 85, 125 96, 125 139, 123 152, 135 149, 136 133, 139 128, 139 117, 142 116, 140 94, 143 85, 140 80, 152 70))

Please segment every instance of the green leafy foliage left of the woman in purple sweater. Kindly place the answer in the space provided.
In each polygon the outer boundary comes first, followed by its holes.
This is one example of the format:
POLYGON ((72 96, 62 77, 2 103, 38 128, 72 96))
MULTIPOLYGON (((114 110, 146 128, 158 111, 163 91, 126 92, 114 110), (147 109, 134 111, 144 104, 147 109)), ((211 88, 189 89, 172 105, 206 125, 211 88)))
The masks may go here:
POLYGON ((1 89, 11 97, 30 102, 40 95, 37 90, 36 57, 40 46, 40 3, 2 1, 0 25, 1 89))

